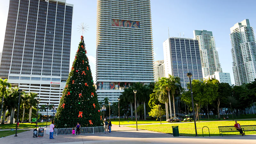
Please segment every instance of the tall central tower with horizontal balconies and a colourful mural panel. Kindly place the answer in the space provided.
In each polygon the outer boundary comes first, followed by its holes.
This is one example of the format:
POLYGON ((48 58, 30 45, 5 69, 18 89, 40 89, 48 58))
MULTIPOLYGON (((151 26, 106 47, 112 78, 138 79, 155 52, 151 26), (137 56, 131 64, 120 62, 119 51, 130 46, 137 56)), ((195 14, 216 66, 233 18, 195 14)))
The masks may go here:
POLYGON ((97 1, 98 100, 117 102, 130 83, 154 81, 150 0, 97 1))

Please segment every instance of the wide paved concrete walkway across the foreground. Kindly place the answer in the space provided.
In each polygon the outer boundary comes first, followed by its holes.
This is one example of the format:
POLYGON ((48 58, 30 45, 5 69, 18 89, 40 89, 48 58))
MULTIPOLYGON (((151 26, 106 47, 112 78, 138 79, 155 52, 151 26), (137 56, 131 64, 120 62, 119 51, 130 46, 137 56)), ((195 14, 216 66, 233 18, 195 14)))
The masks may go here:
POLYGON ((178 144, 241 144, 255 143, 256 135, 229 135, 229 136, 213 136, 213 137, 173 137, 170 134, 159 132, 151 132, 145 130, 136 131, 136 129, 118 125, 112 126, 111 133, 95 133, 83 135, 60 135, 53 136, 55 139, 49 139, 49 135, 45 134, 44 138, 33 138, 33 132, 23 132, 17 134, 18 137, 8 136, 0 138, 0 143, 3 144, 84 144, 84 143, 178 143, 178 144))

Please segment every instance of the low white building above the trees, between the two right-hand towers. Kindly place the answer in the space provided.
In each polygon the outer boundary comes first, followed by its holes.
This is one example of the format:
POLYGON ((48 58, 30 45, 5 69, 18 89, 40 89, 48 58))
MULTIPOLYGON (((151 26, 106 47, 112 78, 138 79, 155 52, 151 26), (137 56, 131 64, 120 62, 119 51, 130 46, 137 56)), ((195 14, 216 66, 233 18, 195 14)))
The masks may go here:
POLYGON ((231 79, 230 79, 230 73, 223 73, 219 71, 215 71, 214 75, 211 76, 206 76, 204 77, 205 79, 217 79, 220 83, 228 83, 230 86, 231 84, 231 79))

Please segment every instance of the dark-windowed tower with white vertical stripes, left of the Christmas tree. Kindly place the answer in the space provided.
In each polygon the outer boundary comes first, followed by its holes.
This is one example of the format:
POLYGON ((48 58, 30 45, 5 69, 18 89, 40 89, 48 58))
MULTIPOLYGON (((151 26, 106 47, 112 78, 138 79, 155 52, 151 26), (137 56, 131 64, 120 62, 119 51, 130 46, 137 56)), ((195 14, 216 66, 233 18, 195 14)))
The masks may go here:
POLYGON ((58 107, 69 73, 73 5, 10 0, 0 77, 58 107))

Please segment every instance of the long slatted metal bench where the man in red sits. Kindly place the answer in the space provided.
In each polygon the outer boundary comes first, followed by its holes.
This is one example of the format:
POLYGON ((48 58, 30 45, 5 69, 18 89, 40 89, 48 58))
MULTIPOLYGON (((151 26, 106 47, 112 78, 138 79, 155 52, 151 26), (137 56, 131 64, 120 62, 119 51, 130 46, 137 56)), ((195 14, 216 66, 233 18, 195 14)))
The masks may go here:
MULTIPOLYGON (((220 134, 223 136, 223 132, 238 132, 237 129, 234 126, 218 126, 220 134)), ((245 132, 252 132, 256 131, 256 125, 241 125, 242 131, 245 132)), ((240 132, 239 132, 240 134, 240 132)))

